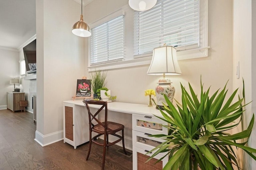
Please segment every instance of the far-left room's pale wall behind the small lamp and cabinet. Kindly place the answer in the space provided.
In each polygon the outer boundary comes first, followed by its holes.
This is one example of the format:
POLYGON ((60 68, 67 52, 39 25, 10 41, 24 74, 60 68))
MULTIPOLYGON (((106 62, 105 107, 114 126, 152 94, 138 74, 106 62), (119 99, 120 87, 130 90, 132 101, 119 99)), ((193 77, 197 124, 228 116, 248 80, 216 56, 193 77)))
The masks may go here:
MULTIPOLYGON (((0 49, 0 109, 7 108, 7 92, 14 91, 11 78, 19 78, 20 64, 18 51, 0 49)), ((15 85, 19 87, 19 84, 15 85)))

